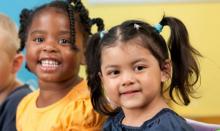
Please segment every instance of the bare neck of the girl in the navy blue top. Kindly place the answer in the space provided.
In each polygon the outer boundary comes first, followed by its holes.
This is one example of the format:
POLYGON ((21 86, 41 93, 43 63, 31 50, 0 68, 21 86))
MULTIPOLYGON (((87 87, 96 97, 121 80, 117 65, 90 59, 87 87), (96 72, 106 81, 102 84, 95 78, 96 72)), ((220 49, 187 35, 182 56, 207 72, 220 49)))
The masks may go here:
POLYGON ((166 102, 161 100, 149 104, 147 107, 138 109, 123 109, 125 114, 122 124, 133 127, 140 127, 145 121, 153 118, 163 108, 169 108, 166 102))

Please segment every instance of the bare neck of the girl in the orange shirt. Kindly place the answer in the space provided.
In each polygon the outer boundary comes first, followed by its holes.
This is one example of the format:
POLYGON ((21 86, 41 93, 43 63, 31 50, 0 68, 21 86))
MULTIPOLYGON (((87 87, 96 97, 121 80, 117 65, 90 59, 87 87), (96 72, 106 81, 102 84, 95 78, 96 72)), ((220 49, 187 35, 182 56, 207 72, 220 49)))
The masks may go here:
POLYGON ((40 94, 37 99, 37 107, 46 107, 62 99, 80 81, 82 81, 80 77, 64 82, 39 81, 40 94))

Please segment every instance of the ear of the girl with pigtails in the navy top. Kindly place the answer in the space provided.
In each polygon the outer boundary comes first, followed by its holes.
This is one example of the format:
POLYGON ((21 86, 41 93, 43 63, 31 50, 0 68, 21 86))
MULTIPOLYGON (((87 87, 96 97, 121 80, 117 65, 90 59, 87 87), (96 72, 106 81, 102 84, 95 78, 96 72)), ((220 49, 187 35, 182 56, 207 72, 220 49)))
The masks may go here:
POLYGON ((171 78, 172 74, 172 62, 167 59, 164 61, 161 67, 161 82, 165 82, 171 78))

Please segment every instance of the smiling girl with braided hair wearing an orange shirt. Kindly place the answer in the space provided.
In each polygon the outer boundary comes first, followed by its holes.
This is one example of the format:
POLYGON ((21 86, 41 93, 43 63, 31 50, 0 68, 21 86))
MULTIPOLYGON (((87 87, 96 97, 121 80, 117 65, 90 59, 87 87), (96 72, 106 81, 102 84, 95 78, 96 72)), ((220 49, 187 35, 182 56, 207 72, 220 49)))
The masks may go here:
POLYGON ((18 131, 100 130, 105 118, 94 111, 87 84, 78 75, 92 24, 104 28, 102 19, 89 18, 79 0, 22 11, 19 37, 39 90, 19 104, 18 131))

